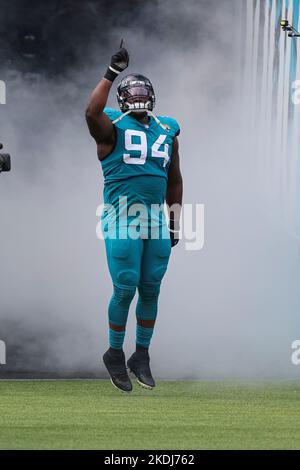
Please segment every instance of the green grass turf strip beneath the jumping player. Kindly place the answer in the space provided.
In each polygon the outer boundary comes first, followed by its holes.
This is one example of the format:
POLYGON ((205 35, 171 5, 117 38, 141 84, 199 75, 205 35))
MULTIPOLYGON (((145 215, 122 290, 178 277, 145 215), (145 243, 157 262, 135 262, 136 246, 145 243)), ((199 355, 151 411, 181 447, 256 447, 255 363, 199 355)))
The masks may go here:
POLYGON ((300 384, 1 381, 1 449, 300 449, 300 384))

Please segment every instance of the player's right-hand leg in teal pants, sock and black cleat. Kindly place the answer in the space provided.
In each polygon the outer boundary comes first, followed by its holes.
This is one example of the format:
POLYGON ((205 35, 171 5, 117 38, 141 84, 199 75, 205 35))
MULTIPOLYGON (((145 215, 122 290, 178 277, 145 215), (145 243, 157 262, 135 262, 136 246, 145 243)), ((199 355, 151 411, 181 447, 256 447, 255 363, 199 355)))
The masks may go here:
POLYGON ((139 384, 146 388, 155 386, 150 370, 149 346, 157 317, 160 285, 168 267, 170 253, 170 239, 144 240, 136 308, 136 352, 127 365, 136 375, 139 384))

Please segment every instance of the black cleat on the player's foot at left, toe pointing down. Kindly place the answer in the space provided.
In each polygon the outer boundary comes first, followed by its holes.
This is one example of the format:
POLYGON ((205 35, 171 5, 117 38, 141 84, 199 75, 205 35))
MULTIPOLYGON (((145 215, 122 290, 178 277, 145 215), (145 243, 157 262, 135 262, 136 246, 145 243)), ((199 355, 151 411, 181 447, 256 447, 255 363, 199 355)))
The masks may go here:
POLYGON ((122 392, 131 392, 132 383, 127 373, 124 352, 109 348, 103 355, 103 362, 113 386, 122 392))

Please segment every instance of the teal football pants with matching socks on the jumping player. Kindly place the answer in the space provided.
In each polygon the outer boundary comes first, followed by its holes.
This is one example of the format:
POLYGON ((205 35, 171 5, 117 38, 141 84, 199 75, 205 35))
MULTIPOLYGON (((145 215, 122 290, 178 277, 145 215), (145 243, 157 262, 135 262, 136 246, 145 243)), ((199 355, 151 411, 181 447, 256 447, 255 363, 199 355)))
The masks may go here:
POLYGON ((113 281, 108 308, 110 347, 123 346, 129 307, 138 289, 136 343, 148 348, 157 316, 160 284, 170 258, 170 239, 106 238, 105 246, 113 281))

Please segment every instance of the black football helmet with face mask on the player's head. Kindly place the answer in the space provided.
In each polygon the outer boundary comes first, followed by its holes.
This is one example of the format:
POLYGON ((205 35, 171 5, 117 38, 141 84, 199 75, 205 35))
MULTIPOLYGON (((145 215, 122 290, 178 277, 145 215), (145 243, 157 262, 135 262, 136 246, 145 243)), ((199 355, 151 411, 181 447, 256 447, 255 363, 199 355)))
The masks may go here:
POLYGON ((123 113, 152 111, 155 106, 152 83, 144 75, 139 74, 131 74, 123 78, 118 86, 117 99, 123 113))

